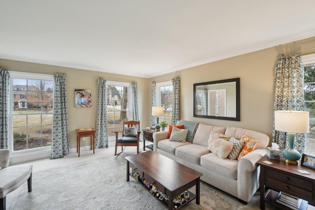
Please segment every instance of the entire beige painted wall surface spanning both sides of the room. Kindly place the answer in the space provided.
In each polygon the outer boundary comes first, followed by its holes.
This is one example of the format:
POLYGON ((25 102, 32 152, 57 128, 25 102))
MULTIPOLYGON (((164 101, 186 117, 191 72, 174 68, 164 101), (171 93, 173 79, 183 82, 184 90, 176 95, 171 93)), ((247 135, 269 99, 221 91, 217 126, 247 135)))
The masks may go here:
MULTIPOLYGON (((76 128, 95 127, 97 78, 106 80, 138 83, 141 127, 150 125, 151 119, 151 83, 169 81, 175 76, 181 79, 181 119, 193 120, 217 126, 235 126, 266 133, 271 137, 273 123, 274 81, 273 68, 278 54, 315 48, 315 37, 291 42, 253 53, 219 60, 196 67, 164 74, 150 79, 109 74, 81 69, 42 65, 14 60, 1 60, 0 66, 9 70, 32 72, 35 69, 67 74, 67 100, 69 117, 70 147, 76 147, 76 128), (12 68, 14 67, 14 68, 12 68), (23 68, 23 69, 15 69, 23 68), (214 120, 193 117, 193 84, 240 78, 241 121, 214 120), (75 108, 74 89, 91 89, 93 106, 91 108, 75 108)), ((302 51, 302 55, 315 53, 315 50, 302 51)), ((34 72, 39 73, 39 72, 34 72)))

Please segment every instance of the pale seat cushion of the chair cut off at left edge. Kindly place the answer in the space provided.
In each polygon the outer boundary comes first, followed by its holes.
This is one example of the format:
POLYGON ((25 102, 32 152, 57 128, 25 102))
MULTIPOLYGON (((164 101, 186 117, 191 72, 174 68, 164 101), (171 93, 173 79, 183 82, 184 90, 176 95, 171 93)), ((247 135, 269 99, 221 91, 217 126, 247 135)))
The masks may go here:
POLYGON ((0 170, 0 198, 12 192, 28 180, 32 174, 32 164, 22 164, 0 170))

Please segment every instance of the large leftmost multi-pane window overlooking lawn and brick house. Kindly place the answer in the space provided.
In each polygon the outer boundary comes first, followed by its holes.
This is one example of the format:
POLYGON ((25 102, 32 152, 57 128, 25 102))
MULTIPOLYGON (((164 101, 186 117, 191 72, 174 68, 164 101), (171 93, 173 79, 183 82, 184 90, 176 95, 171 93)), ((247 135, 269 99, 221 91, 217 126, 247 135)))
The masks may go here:
POLYGON ((53 121, 53 76, 24 72, 9 73, 10 150, 27 153, 35 149, 48 147, 50 149, 53 121))

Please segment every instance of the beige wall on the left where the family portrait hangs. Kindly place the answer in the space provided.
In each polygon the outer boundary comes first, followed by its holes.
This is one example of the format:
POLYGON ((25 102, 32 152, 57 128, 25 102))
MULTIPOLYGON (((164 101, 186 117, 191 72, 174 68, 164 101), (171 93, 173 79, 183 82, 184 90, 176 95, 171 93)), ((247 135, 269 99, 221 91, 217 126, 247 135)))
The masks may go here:
MULTIPOLYGON (((49 71, 49 72, 62 72, 67 74, 66 90, 67 90, 67 103, 68 103, 68 121, 69 121, 69 138, 70 148, 76 148, 76 132, 77 128, 95 127, 96 123, 96 93, 97 93, 97 79, 104 78, 107 81, 119 82, 137 82, 138 96, 139 96, 139 110, 140 110, 140 126, 146 128, 150 124, 150 116, 145 117, 148 113, 149 97, 149 80, 147 78, 130 77, 118 74, 109 74, 96 71, 88 71, 82 69, 65 68, 52 65, 43 65, 30 62, 20 62, 14 60, 1 60, 0 66, 7 67, 12 71, 25 71, 33 73, 47 73, 32 71, 27 69, 49 71), (22 69, 19 69, 22 68, 22 69), (74 89, 91 89, 92 92, 92 107, 91 108, 75 108, 74 107, 74 89)), ((81 141, 81 146, 90 145, 89 141, 81 141)))

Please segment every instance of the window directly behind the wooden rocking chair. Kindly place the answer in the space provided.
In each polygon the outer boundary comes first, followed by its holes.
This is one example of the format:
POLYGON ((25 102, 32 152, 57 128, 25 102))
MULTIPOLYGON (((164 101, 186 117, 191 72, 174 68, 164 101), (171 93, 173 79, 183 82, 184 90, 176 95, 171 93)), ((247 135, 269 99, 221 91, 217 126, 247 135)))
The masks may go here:
POLYGON ((123 121, 132 120, 131 84, 107 81, 106 90, 107 132, 111 140, 115 131, 123 130, 123 121))

